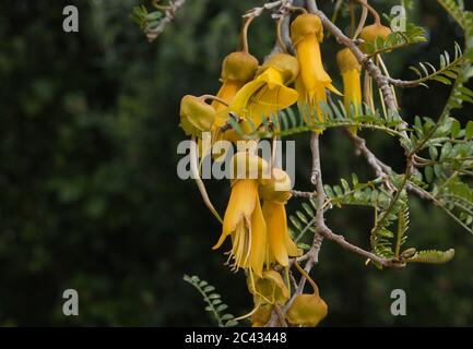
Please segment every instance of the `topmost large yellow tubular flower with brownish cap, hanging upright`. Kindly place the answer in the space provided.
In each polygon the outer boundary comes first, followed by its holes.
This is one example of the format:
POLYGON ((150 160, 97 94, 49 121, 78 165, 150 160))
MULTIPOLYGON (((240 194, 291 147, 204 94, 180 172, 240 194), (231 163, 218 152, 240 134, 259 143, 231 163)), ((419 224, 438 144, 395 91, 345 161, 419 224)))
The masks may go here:
MULTIPOLYGON (((332 79, 323 69, 320 52, 323 40, 322 22, 310 13, 297 16, 291 24, 291 38, 300 67, 300 76, 296 81, 299 104, 308 106, 310 117, 317 112, 319 121, 323 121, 319 104, 327 103, 326 89, 338 95, 341 93, 332 85, 332 79)), ((305 117, 307 119, 309 116, 305 117)))

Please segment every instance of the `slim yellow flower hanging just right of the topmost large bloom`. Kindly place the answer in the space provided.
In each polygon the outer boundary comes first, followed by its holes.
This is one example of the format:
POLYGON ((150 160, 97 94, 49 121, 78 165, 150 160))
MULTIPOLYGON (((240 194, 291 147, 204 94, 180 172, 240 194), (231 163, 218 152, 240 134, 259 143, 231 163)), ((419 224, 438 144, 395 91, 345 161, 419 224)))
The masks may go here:
MULTIPOLYGON (((359 116, 359 106, 362 105, 362 65, 359 65, 353 52, 345 48, 336 53, 336 62, 343 79, 343 101, 345 110, 348 113, 353 105, 355 108, 355 120, 359 116)), ((356 134, 356 127, 350 129, 356 134)))

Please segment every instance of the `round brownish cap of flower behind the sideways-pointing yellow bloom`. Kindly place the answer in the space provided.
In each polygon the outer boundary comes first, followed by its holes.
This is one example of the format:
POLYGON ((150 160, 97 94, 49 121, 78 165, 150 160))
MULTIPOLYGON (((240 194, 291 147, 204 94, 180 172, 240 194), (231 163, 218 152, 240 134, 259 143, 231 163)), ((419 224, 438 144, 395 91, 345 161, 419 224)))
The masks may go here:
POLYGON ((222 80, 249 82, 255 77, 258 69, 258 60, 246 52, 232 52, 222 63, 222 80))

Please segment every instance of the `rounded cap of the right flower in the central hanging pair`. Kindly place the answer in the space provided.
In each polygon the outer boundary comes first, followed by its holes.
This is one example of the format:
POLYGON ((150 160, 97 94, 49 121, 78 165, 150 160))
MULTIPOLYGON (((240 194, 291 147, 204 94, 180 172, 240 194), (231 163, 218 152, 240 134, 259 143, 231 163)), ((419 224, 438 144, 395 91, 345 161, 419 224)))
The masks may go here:
POLYGON ((285 204, 292 196, 291 189, 289 176, 282 169, 273 168, 271 178, 260 181, 259 194, 262 200, 285 204))

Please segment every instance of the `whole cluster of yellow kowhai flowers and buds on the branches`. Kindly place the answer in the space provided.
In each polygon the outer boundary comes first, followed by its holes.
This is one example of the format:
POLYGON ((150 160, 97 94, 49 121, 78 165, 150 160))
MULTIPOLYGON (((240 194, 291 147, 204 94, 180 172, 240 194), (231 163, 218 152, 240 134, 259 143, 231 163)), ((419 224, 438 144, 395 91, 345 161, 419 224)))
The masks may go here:
MULTIPOLYGON (((377 36, 386 37, 386 33, 374 26, 362 32, 365 40, 374 41, 377 36)), ((180 125, 186 134, 200 139, 203 132, 211 132, 212 142, 241 141, 244 136, 224 128, 228 118, 236 115, 243 133, 248 134, 260 127, 264 118, 296 103, 306 108, 306 120, 317 117, 323 122, 320 103, 327 103, 327 92, 342 94, 323 69, 321 20, 309 13, 298 15, 291 25, 291 38, 296 57, 274 53, 259 65, 249 52, 228 55, 223 61, 222 86, 216 96, 182 98, 180 125)), ((350 49, 341 50, 336 60, 343 76, 345 108, 355 106, 357 116, 362 104, 362 67, 350 49)), ((356 132, 356 128, 352 132, 356 132)), ((277 270, 287 269, 289 257, 300 255, 287 230, 285 204, 291 198, 291 179, 251 151, 237 153, 233 166, 244 168, 248 177, 232 180, 222 234, 213 249, 218 249, 230 237, 228 263, 234 270, 247 272, 248 288, 256 305, 251 312, 252 324, 261 326, 269 321, 275 305, 289 300, 288 282, 277 270), (258 173, 248 173, 247 168, 257 169, 258 173), (269 178, 261 176, 265 171, 270 172, 269 178)), ((298 294, 286 312, 287 321, 295 325, 315 326, 327 315, 327 304, 319 297, 315 282, 308 279, 314 293, 298 294)))

